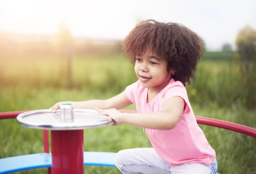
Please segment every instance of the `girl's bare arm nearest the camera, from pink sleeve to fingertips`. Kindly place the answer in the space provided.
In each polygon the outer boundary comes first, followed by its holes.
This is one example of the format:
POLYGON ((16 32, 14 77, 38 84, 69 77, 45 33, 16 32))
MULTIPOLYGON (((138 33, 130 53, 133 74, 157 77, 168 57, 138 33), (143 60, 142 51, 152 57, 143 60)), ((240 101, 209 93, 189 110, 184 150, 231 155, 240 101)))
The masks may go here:
POLYGON ((180 120, 185 101, 181 97, 172 97, 166 101, 163 109, 159 112, 150 113, 121 113, 116 109, 97 109, 99 115, 108 115, 116 123, 123 123, 149 129, 173 129, 180 120))

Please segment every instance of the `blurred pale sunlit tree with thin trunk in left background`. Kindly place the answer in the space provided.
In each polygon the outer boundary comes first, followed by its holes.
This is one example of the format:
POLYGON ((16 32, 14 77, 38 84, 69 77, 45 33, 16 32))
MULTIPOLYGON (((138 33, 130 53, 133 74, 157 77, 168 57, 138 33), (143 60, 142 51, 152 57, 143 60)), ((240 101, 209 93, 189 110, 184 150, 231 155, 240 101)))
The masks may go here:
POLYGON ((75 38, 72 36, 69 28, 64 22, 59 23, 58 33, 55 34, 55 51, 60 57, 60 75, 66 74, 67 77, 67 87, 71 88, 73 86, 72 81, 72 56, 75 47, 75 38), (63 59, 65 58, 65 59, 63 59), (62 68, 65 67, 66 68, 62 68))

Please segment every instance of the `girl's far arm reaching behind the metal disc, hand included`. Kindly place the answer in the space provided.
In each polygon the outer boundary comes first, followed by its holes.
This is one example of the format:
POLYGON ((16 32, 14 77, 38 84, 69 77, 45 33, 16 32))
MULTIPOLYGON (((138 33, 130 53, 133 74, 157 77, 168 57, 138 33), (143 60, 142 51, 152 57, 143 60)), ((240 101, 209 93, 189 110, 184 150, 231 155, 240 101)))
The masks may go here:
POLYGON ((79 109, 94 109, 96 107, 102 109, 122 109, 132 104, 132 102, 127 98, 127 95, 124 92, 109 98, 107 100, 88 100, 88 101, 66 101, 58 102, 52 107, 52 112, 56 112, 59 109, 60 105, 63 103, 70 103, 74 108, 79 109))

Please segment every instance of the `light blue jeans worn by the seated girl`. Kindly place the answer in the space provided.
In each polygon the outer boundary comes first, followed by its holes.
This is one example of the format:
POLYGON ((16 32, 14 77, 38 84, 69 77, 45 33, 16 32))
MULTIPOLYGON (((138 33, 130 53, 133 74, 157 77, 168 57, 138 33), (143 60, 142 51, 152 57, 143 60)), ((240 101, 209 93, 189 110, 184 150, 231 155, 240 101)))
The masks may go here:
POLYGON ((218 168, 216 159, 209 166, 201 163, 170 166, 153 148, 121 150, 116 154, 115 164, 123 174, 216 174, 218 168))

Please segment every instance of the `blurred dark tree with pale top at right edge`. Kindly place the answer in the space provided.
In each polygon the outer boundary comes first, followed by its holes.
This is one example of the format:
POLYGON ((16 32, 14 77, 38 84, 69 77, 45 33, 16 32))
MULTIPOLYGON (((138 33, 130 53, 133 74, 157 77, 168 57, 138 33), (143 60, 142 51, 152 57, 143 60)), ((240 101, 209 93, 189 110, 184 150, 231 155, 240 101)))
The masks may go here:
POLYGON ((256 107, 256 30, 250 25, 242 28, 236 36, 240 75, 244 83, 248 108, 256 107))

